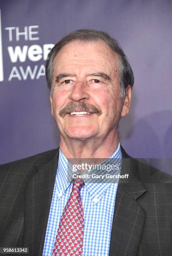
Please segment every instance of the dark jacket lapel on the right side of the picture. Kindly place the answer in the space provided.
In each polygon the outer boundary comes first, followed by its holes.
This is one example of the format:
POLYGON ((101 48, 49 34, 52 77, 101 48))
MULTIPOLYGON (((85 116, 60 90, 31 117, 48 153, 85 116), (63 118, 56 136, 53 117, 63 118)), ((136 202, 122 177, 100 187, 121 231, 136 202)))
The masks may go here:
POLYGON ((110 256, 135 256, 138 253, 145 211, 137 202, 146 189, 138 176, 137 161, 131 159, 122 149, 122 173, 129 179, 121 179, 117 189, 112 221, 110 256))

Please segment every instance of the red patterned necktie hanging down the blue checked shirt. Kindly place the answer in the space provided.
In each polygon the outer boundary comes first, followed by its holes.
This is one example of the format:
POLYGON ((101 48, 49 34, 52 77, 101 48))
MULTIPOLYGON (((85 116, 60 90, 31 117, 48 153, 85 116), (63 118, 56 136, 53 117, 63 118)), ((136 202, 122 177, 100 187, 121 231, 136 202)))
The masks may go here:
POLYGON ((74 179, 72 192, 63 210, 55 238, 52 256, 82 255, 84 211, 81 200, 82 179, 74 179))

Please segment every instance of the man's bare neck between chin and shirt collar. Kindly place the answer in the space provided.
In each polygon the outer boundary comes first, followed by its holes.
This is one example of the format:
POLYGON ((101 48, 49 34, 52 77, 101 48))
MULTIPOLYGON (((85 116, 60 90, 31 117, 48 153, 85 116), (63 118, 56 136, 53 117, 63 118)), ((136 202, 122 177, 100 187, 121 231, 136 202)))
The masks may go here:
POLYGON ((119 134, 116 132, 106 138, 72 140, 60 136, 60 149, 66 158, 108 158, 116 150, 119 134))

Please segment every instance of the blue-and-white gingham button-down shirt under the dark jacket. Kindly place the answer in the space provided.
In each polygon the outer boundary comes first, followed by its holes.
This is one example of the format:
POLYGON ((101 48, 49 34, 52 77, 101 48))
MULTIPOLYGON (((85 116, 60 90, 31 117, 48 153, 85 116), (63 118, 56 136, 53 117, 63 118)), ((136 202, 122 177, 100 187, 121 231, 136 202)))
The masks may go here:
MULTIPOLYGON (((121 159, 120 143, 109 157, 121 159)), ((120 174, 120 169, 115 172, 120 174)), ((109 255, 112 219, 119 179, 115 183, 85 183, 81 189, 84 210, 83 256, 109 255)), ((62 212, 72 191, 67 182, 67 159, 59 152, 54 192, 47 223, 43 256, 51 256, 62 212)))

